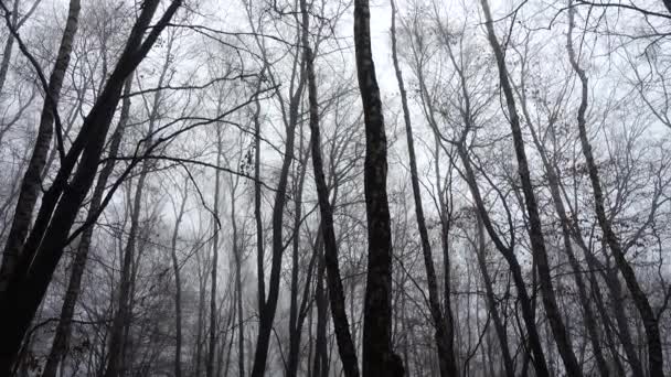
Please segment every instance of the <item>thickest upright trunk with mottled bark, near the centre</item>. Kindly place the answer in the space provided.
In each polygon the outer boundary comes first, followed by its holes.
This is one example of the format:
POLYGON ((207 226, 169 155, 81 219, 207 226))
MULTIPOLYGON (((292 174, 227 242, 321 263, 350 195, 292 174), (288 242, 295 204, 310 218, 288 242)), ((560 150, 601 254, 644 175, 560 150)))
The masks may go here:
POLYGON ((364 191, 369 261, 363 320, 363 376, 403 376, 392 349, 392 237, 386 194, 386 134, 371 46, 368 0, 354 1, 354 50, 365 120, 364 191))

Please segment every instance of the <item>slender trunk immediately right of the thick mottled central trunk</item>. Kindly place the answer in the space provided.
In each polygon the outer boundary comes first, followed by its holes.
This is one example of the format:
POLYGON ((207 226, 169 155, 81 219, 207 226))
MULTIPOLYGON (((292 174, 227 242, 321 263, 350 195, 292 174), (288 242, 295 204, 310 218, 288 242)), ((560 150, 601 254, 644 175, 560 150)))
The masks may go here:
MULTIPOLYGON (((447 320, 443 315, 440 309, 440 298, 438 294, 438 282, 436 278, 436 269, 434 267, 434 257, 432 252, 432 245, 428 238, 428 230, 426 228, 426 220, 424 218, 424 207, 422 205, 422 191, 419 188, 419 179, 417 173, 417 161, 415 158, 415 142, 413 139, 413 126, 411 123, 411 112, 407 105, 407 94, 405 91, 405 85, 403 82, 403 73, 398 64, 398 56, 396 52, 396 8, 394 0, 391 0, 392 4, 392 60, 394 63, 394 71, 396 73, 396 80, 398 84, 398 91, 401 93, 401 104, 403 106, 403 120, 405 122, 405 133, 407 138, 407 150, 411 166, 411 182, 413 185, 413 198, 415 201, 415 215, 417 217, 417 227, 419 229, 419 238, 422 240, 422 252, 424 256, 424 267, 426 269, 426 280, 428 286, 428 299, 429 310, 432 319, 434 321, 435 328, 435 341, 436 348, 438 352, 438 366, 440 369, 441 377, 456 376, 458 373, 457 359, 455 357, 454 349, 454 337, 452 333, 447 328, 447 320)), ((439 193, 441 195, 441 193, 439 193)), ((447 281, 446 281, 447 282, 447 281)), ((449 287, 446 287, 449 290, 449 287)), ((451 311, 451 308, 447 306, 449 302, 446 302, 446 311, 451 311)))

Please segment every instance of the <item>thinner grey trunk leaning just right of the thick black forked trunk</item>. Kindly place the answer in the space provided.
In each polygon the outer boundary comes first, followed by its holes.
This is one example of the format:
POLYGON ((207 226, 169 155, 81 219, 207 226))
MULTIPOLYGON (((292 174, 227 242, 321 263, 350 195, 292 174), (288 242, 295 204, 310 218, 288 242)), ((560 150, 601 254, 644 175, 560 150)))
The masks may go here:
MULTIPOLYGON (((124 94, 130 94, 131 83, 127 80, 126 87, 124 89, 124 94)), ((88 209, 87 220, 92 220, 95 216, 96 212, 100 207, 100 201, 103 200, 103 194, 105 193, 105 187, 107 186, 107 181, 109 175, 111 174, 115 165, 114 158, 119 152, 119 147, 121 144, 121 139, 124 138, 124 130, 126 128, 126 123, 128 121, 128 112, 130 110, 130 97, 124 97, 124 103, 121 106, 121 115, 119 117, 119 122, 115 133, 111 136, 111 143, 109 147, 109 159, 105 163, 105 166, 100 171, 98 175, 98 182, 96 183, 96 187, 94 188, 93 196, 90 198, 90 205, 88 209)), ((82 237, 79 238, 79 245, 77 246, 77 251, 75 254, 75 259, 72 263, 72 271, 70 273, 70 281, 67 283, 67 290, 65 292, 65 298, 63 300, 63 306, 61 308, 61 316, 58 317, 58 324, 56 325, 56 332, 54 334, 54 340, 52 343, 51 352, 49 353, 49 357, 46 358, 46 365, 44 366, 44 371, 42 373, 42 377, 55 377, 58 368, 58 364, 62 363, 63 357, 65 356, 67 348, 70 346, 70 336, 72 333, 72 319, 75 311, 75 305, 77 303, 77 299, 79 297, 79 288, 82 286, 82 276, 84 274, 84 269, 86 267, 86 261, 88 259, 88 251, 90 249, 90 240, 93 238, 94 227, 89 226, 82 233, 82 237)), ((178 376, 179 377, 179 376, 178 376)))

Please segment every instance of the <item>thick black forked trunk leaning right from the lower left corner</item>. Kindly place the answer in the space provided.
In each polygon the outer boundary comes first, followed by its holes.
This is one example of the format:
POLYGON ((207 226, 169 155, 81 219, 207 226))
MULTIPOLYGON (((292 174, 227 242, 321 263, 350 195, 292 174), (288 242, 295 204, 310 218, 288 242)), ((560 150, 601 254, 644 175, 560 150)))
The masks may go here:
POLYGON ((121 97, 128 75, 147 56, 166 29, 182 0, 173 0, 153 28, 148 29, 159 0, 147 0, 127 45, 105 88, 85 118, 82 129, 62 161, 54 183, 44 194, 38 217, 12 274, 7 290, 0 295, 1 308, 13 308, 0 313, 0 375, 10 375, 23 337, 49 288, 70 230, 88 193, 103 153, 109 125, 121 97), (149 30, 145 37, 145 32, 149 30), (78 162, 78 164, 77 164, 78 162), (74 176, 71 173, 77 166, 74 176), (70 181, 70 182, 68 182, 70 181), (68 184, 70 183, 70 184, 68 184))

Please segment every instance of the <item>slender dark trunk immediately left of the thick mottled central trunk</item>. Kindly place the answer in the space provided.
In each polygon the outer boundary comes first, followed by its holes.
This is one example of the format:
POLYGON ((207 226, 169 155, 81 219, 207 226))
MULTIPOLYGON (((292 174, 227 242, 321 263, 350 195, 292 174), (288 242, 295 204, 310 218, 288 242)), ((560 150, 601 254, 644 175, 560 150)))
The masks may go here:
POLYGON ((345 298, 340 278, 340 267, 338 265, 338 244, 336 241, 336 230, 333 228, 333 209, 329 203, 329 191, 323 173, 323 162, 321 160, 321 138, 319 129, 319 103, 317 97, 317 79, 315 78, 315 57, 308 40, 309 15, 306 0, 300 0, 302 13, 302 47, 303 61, 306 62, 306 73, 308 76, 308 101, 310 107, 310 131, 312 147, 312 169, 315 170, 315 184, 319 202, 319 213, 321 215, 321 230, 324 245, 324 266, 327 270, 327 282, 329 288, 329 299, 331 304, 331 316, 336 331, 338 351, 342 360, 345 377, 359 377, 359 362, 356 359, 356 348, 352 342, 350 324, 345 312, 345 298))

